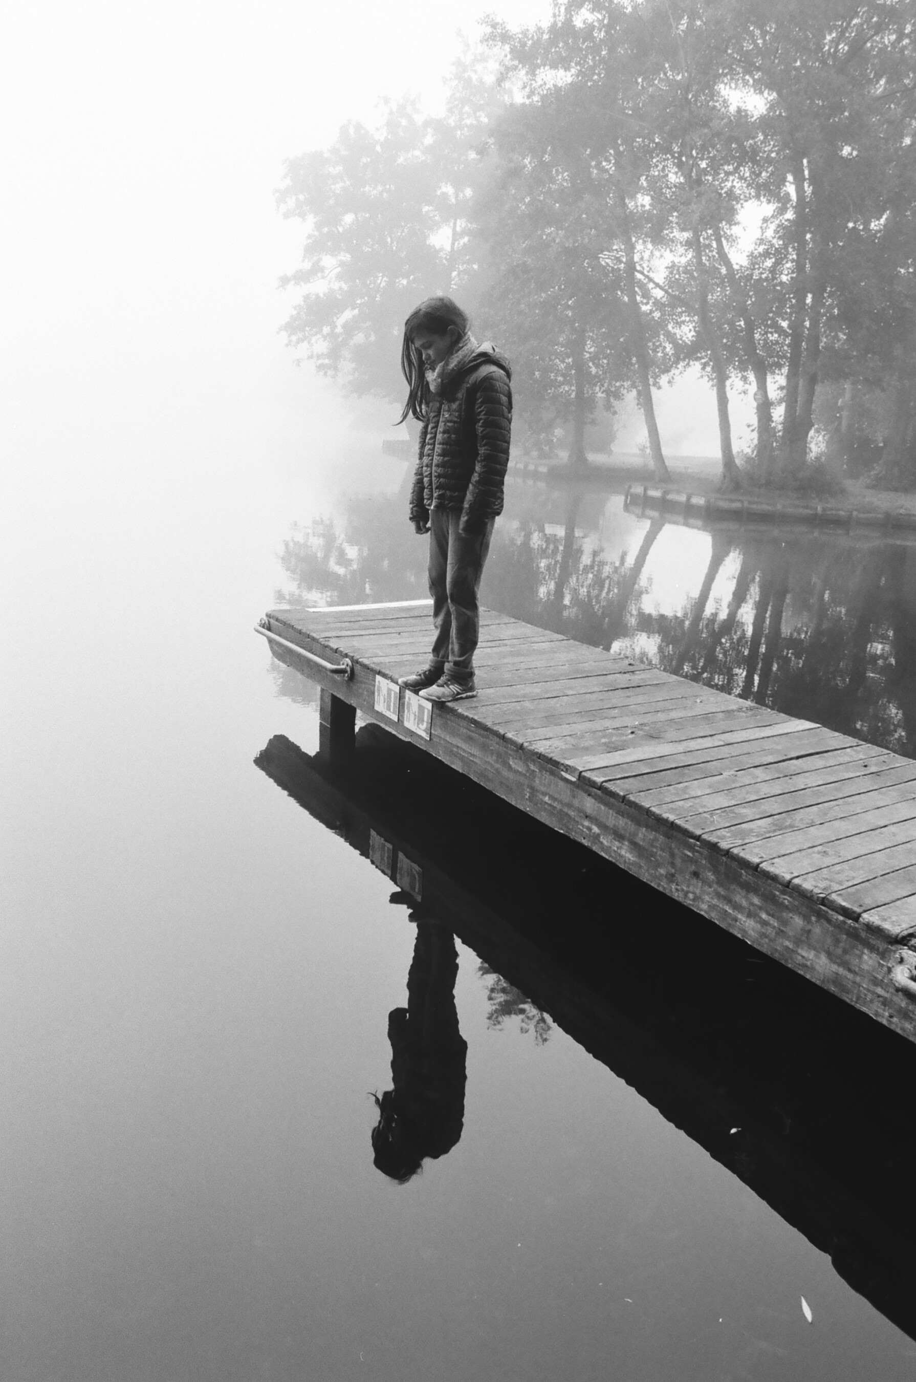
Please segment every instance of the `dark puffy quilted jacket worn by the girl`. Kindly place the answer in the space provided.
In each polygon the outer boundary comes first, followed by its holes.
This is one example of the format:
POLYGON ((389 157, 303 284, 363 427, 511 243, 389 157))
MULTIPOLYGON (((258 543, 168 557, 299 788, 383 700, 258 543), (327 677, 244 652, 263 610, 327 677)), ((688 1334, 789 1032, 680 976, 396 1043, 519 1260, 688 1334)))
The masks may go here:
POLYGON ((420 433, 410 492, 410 521, 430 509, 460 509, 473 529, 503 511, 513 422, 511 369, 492 347, 481 347, 430 402, 420 433))

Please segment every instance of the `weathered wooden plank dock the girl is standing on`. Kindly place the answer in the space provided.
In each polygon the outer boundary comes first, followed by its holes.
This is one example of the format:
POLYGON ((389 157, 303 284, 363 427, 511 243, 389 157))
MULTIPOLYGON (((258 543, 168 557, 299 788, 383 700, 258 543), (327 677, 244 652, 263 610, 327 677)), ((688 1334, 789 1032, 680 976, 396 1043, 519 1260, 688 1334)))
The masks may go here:
POLYGON ((359 712, 916 1041, 916 761, 490 611, 450 706, 397 685, 428 601, 260 632, 321 687, 326 745, 359 712))

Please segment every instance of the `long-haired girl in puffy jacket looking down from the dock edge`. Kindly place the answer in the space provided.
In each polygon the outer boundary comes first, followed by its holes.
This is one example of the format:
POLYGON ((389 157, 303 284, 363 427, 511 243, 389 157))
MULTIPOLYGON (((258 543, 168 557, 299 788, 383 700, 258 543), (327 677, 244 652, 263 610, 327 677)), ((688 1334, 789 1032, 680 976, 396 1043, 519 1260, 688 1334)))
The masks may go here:
POLYGON ((423 423, 410 522, 430 533, 432 651, 401 685, 426 701, 477 695, 478 591, 493 524, 503 511, 513 420, 511 369, 474 340, 450 297, 428 297, 408 316, 401 347, 408 401, 423 423))

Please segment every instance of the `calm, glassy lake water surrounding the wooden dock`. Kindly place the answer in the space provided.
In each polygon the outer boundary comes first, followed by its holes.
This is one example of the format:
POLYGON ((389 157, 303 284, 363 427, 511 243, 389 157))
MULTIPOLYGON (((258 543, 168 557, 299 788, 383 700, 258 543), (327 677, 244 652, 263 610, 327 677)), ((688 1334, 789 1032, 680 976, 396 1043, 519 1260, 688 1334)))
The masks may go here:
MULTIPOLYGON (((54 470, 10 535, 4 1382, 915 1376, 910 1048, 372 734, 314 757, 250 625, 423 593, 403 467, 330 462, 54 470), (398 1186, 409 980, 467 1053, 398 1186)), ((910 752, 906 549, 535 485, 497 535, 492 605, 910 752)))

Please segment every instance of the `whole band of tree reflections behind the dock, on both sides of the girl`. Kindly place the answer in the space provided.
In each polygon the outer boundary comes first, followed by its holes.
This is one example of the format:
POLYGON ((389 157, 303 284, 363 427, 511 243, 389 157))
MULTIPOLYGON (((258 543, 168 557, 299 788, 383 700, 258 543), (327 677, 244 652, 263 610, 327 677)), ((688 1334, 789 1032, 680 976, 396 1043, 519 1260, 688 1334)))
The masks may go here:
MULTIPOLYGON (((916 756, 915 547, 713 532, 696 597, 659 611, 644 608, 644 568, 662 520, 613 560, 576 529, 580 504, 571 489, 555 528, 531 514, 497 524, 488 604, 595 647, 634 640, 634 655, 666 672, 916 756), (724 574, 729 589, 710 603, 724 574)), ((424 596, 427 546, 405 514, 402 486, 352 499, 343 529, 318 520, 297 531, 280 598, 424 596)))

